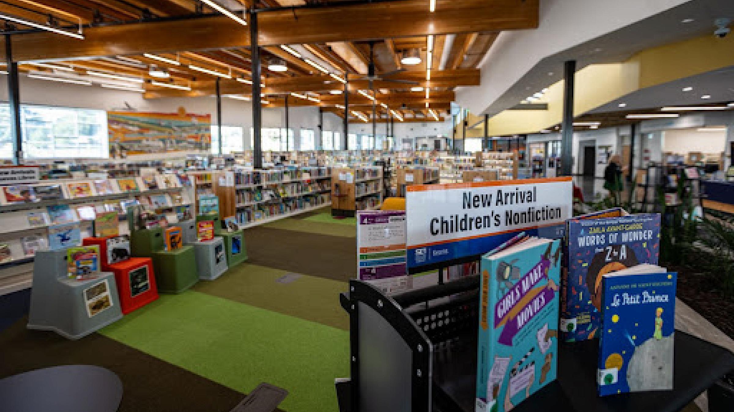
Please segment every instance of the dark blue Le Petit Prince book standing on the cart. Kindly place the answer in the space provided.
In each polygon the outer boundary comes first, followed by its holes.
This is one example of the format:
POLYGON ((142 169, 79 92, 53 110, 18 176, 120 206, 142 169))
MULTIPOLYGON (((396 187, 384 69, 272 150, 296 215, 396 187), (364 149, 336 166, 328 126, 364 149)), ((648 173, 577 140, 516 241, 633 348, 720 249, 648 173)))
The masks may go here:
POLYGON ((603 278, 600 396, 673 388, 677 274, 657 266, 642 267, 651 267, 654 273, 603 278))

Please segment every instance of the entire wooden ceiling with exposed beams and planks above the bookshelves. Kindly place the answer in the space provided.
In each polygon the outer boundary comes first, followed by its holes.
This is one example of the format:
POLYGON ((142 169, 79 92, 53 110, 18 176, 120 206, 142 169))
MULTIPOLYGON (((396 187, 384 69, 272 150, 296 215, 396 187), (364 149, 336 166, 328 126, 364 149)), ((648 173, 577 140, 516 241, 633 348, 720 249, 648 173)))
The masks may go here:
MULTIPOLYGON (((328 73, 349 79, 350 109, 369 117, 373 102, 359 91, 374 95, 378 121, 385 121, 390 111, 406 121, 433 120, 426 103, 443 118, 454 100, 454 87, 479 85, 477 66, 498 32, 538 24, 538 0, 437 0, 436 12, 429 12, 429 0, 215 1, 239 16, 249 9, 268 10, 258 12, 266 106, 283 106, 289 96, 290 106, 321 106, 344 116, 337 106, 344 104, 344 95, 333 94, 343 90, 344 84, 313 67, 310 60, 328 73), (429 35, 433 36, 430 80, 426 79, 429 35), (372 81, 366 78, 371 49, 377 75, 372 81), (418 53, 421 63, 402 64, 403 54, 411 52, 418 53), (267 70, 272 59, 285 60, 288 71, 267 70), (417 87, 429 88, 429 97, 417 87)), ((0 14, 71 32, 83 26, 85 39, 77 40, 6 24, 7 30, 17 33, 12 35, 12 45, 14 59, 22 61, 22 72, 86 77, 88 71, 97 71, 144 79, 145 98, 213 95, 217 80, 222 94, 252 93, 250 84, 241 81, 251 79, 249 27, 199 0, 4 0, 0 14), (170 79, 151 77, 151 65, 166 69, 170 79), (150 84, 153 80, 191 90, 159 87, 150 84)))

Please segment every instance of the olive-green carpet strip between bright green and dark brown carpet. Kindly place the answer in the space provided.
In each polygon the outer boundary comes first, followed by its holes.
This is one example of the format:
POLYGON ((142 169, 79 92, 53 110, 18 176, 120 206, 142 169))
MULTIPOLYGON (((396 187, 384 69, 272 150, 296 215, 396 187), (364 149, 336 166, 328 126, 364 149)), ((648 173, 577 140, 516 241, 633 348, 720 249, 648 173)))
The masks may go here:
POLYGON ((199 282, 197 292, 213 294, 250 306, 349 330, 349 316, 339 304, 346 282, 303 275, 291 283, 278 283, 288 273, 256 264, 241 264, 214 282, 199 282), (273 299, 277 296, 277 299, 273 299))

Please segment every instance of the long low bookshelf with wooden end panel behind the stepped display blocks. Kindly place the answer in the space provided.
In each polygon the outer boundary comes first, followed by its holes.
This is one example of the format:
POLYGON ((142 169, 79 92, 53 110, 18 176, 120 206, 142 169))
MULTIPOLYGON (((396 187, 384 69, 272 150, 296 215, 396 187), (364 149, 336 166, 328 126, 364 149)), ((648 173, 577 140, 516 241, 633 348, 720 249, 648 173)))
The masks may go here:
POLYGON ((328 167, 252 170, 236 167, 214 182, 219 214, 235 217, 241 228, 283 219, 328 206, 328 167))

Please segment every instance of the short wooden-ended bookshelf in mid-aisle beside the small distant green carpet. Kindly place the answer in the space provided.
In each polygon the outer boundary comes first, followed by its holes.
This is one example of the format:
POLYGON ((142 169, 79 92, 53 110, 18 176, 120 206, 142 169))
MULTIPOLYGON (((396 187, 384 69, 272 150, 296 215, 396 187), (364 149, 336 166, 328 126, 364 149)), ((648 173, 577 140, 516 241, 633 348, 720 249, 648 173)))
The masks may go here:
POLYGON ((333 167, 332 176, 332 214, 351 217, 357 210, 382 206, 381 166, 333 167))

